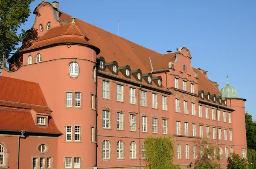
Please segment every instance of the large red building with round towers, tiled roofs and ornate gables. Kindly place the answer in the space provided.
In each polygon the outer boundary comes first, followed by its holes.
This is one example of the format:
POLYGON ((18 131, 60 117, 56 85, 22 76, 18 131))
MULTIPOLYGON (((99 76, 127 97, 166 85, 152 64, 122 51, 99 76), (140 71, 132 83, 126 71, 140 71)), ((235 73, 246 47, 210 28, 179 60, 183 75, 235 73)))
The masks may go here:
POLYGON ((221 168, 230 152, 247 158, 245 99, 193 68, 187 48, 151 51, 56 1, 34 14, 31 40, 9 69, 2 64, 0 168, 17 167, 18 154, 20 169, 145 168, 149 135, 173 135, 182 168, 195 162, 202 137, 218 146, 221 168))

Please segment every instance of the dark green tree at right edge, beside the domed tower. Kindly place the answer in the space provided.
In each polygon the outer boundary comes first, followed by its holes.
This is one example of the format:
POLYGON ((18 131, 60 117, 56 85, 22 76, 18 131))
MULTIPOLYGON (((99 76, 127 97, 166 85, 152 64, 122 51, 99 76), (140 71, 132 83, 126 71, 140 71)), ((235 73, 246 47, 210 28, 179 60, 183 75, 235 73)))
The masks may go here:
POLYGON ((256 124, 253 123, 252 115, 245 113, 245 128, 247 147, 256 149, 256 124))

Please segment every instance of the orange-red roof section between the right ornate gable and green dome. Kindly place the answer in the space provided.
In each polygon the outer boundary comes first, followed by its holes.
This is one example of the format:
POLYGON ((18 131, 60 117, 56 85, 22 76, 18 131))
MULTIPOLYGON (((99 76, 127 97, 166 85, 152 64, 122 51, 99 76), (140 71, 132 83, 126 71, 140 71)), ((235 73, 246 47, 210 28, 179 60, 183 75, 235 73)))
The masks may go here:
POLYGON ((204 90, 204 92, 209 92, 210 94, 215 94, 216 96, 219 96, 219 90, 216 88, 212 82, 204 76, 203 73, 201 73, 200 70, 193 68, 198 74, 198 90, 204 90))

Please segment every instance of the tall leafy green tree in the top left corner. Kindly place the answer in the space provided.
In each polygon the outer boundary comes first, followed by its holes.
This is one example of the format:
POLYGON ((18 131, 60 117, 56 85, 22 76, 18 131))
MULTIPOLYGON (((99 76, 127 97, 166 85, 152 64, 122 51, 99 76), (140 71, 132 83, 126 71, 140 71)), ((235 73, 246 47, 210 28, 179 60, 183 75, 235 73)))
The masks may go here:
POLYGON ((17 30, 27 21, 29 5, 34 0, 0 0, 0 62, 3 55, 9 58, 12 51, 22 41, 25 31, 17 35, 17 30))

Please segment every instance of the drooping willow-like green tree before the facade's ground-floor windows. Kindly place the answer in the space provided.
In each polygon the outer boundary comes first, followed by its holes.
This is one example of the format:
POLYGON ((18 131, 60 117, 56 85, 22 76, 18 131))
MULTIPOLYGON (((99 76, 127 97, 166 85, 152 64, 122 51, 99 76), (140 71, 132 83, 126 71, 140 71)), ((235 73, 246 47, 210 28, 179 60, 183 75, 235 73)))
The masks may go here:
POLYGON ((172 137, 149 136, 145 139, 145 162, 150 169, 178 169, 173 164, 174 142, 172 137))

